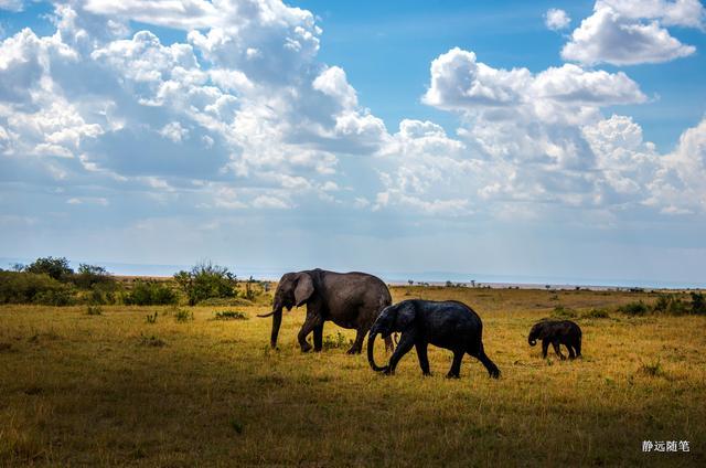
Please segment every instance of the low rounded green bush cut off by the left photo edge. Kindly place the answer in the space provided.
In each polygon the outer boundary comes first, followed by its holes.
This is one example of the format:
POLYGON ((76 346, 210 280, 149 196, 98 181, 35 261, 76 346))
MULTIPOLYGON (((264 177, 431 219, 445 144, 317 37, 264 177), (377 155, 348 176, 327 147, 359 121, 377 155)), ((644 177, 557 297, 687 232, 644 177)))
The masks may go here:
POLYGON ((67 306, 75 302, 75 290, 45 274, 0 272, 0 304, 67 306))

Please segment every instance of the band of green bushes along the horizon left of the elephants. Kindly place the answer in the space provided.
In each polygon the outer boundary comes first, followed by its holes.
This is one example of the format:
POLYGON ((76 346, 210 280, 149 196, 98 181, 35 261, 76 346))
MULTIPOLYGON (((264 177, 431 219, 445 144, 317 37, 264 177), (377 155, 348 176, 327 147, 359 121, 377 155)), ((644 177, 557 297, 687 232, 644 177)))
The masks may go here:
POLYGON ((239 281, 228 268, 210 262, 158 280, 116 278, 106 268, 87 264, 74 270, 65 257, 41 257, 30 265, 14 264, 10 270, 0 268, 0 304, 226 305, 264 299, 268 289, 267 283, 252 277, 239 281))

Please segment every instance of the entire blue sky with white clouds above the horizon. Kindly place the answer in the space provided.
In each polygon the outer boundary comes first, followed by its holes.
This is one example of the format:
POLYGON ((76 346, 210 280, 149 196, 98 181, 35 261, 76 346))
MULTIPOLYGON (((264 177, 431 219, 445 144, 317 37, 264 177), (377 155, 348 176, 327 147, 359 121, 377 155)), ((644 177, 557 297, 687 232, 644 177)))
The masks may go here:
POLYGON ((0 257, 705 285, 704 11, 0 0, 0 257))

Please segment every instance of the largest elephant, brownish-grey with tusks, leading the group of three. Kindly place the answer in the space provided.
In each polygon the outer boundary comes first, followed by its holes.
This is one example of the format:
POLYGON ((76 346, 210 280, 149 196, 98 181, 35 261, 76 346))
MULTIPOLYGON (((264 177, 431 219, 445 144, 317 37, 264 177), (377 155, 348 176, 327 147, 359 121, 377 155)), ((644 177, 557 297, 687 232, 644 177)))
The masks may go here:
MULTIPOLYGON (((282 322, 282 309, 307 305, 307 319, 299 330, 298 340, 301 351, 311 350, 307 342, 313 332, 313 350, 323 347, 323 323, 331 320, 342 328, 357 331, 355 342, 349 354, 360 353, 363 340, 381 310, 392 304, 392 297, 385 283, 366 273, 335 273, 324 269, 287 273, 279 280, 275 291, 272 311, 258 317, 272 316, 270 344, 277 347, 277 336, 282 322)), ((385 340, 392 349, 392 340, 385 340)))

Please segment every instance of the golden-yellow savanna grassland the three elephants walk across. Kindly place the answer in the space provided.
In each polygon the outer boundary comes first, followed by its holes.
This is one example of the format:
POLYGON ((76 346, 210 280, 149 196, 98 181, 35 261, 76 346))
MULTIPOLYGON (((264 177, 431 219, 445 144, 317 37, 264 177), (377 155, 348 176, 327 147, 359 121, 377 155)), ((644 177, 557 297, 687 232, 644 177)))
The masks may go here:
POLYGON ((447 380, 451 353, 434 347, 431 377, 414 351, 396 375, 375 374, 364 355, 345 354, 354 333, 331 322, 324 351, 302 354, 301 309, 285 313, 272 351, 270 320, 255 317, 265 301, 95 315, 0 307, 0 465, 705 466, 706 317, 616 311, 654 301, 648 292, 393 296, 471 305, 502 377, 466 357, 461 379, 447 380), (584 330, 581 360, 552 350, 544 360, 527 345, 556 306, 584 330), (609 317, 589 317, 595 308, 609 317), (248 319, 214 320, 223 310, 248 319), (691 451, 644 454, 643 440, 688 440, 691 451))

